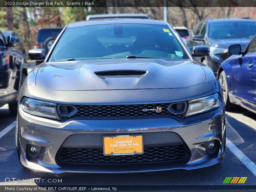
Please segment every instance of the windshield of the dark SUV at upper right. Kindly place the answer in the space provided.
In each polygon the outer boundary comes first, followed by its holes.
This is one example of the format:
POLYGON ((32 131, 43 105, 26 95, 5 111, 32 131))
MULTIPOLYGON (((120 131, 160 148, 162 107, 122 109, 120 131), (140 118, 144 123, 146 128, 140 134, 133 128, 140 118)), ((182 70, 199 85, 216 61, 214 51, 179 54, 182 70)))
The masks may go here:
POLYGON ((252 38, 256 34, 256 22, 211 23, 209 37, 216 39, 252 38))

